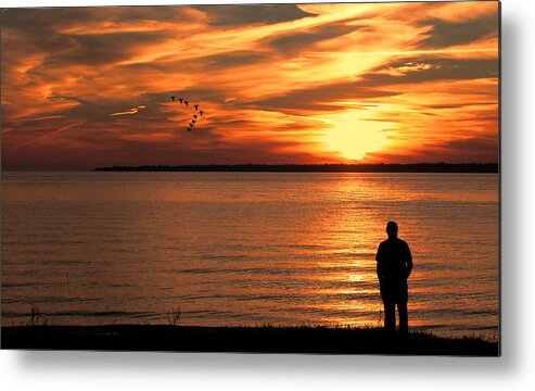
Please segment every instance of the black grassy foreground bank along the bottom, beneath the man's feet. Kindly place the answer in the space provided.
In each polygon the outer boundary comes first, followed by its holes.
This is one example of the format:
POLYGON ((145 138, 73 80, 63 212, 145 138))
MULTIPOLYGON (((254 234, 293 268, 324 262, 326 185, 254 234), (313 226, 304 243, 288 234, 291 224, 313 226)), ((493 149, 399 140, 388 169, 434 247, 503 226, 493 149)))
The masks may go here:
POLYGON ((375 328, 22 326, 2 327, 2 349, 416 354, 497 356, 497 342, 375 328))

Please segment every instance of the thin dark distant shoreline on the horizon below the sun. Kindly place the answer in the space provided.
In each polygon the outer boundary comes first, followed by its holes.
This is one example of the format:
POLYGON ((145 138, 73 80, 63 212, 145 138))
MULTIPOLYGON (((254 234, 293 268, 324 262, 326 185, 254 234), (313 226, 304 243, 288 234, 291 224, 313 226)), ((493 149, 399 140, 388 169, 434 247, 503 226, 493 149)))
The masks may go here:
POLYGON ((497 163, 413 163, 413 164, 209 164, 141 165, 95 167, 97 172, 208 172, 208 173, 473 173, 498 174, 497 163))

